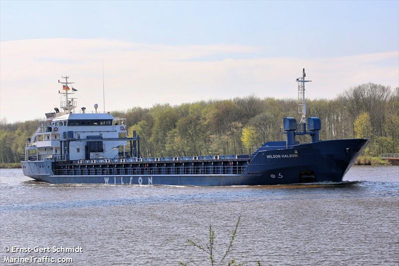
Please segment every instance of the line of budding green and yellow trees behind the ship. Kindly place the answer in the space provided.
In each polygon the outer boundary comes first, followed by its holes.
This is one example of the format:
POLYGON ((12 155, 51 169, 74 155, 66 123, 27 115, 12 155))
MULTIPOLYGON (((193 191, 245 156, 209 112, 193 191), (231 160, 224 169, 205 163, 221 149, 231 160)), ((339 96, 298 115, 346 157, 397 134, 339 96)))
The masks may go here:
MULTIPOLYGON (((143 157, 251 153, 266 141, 285 139, 283 117, 300 121, 297 100, 253 95, 133 107, 112 115, 126 118, 129 136, 133 130, 140 135, 143 157)), ((366 83, 334 99, 307 100, 307 115, 320 117, 320 139, 368 138, 365 155, 399 152, 399 87, 366 83)), ((0 163, 18 162, 26 139, 39 124, 0 121, 0 163)))

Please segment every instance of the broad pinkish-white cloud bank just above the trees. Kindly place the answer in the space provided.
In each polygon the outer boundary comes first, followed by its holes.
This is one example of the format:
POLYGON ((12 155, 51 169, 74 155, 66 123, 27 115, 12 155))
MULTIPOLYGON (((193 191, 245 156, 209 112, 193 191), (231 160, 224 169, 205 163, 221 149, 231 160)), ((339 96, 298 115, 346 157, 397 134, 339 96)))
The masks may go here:
POLYGON ((343 57, 264 57, 262 47, 149 45, 108 39, 30 39, 0 42, 0 116, 8 121, 43 117, 59 105, 57 80, 69 75, 78 106, 106 109, 179 104, 255 94, 297 95, 306 68, 312 98, 332 98, 365 82, 398 86, 399 51, 343 57))

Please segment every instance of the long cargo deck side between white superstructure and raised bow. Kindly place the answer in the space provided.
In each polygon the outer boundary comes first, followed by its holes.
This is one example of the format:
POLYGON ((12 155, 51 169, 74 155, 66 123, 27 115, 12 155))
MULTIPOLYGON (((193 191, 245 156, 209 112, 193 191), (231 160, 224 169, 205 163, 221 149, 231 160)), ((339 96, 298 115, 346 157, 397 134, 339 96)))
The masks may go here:
POLYGON ((242 174, 249 155, 93 159, 56 162, 54 175, 231 175, 242 174))

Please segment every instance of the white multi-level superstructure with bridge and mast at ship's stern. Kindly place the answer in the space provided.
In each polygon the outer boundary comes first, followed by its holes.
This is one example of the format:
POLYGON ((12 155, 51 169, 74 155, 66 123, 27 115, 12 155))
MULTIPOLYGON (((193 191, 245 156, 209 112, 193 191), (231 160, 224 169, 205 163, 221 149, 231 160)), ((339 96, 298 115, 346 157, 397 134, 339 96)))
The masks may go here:
MULTIPOLYGON (((46 120, 26 142, 25 160, 88 160, 125 157, 126 120, 109 112, 75 113, 76 98, 69 97, 68 76, 62 85, 60 112, 46 113, 46 120), (121 155, 122 154, 122 155, 121 155)), ((72 88, 72 91, 77 91, 72 88)), ((132 147, 132 145, 131 145, 132 147)), ((131 149, 130 149, 131 150, 131 149)), ((131 155, 130 155, 131 156, 131 155)))

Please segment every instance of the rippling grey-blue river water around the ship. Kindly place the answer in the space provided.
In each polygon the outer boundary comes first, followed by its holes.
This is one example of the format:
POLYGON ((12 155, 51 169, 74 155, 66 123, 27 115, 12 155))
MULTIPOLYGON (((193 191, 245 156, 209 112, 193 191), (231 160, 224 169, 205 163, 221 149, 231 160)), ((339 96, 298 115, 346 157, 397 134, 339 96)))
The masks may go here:
POLYGON ((20 169, 0 173, 0 264, 48 256, 73 265, 209 265, 187 239, 205 245, 211 224, 220 260, 238 217, 227 256, 236 262, 399 264, 399 167, 353 167, 344 180, 358 183, 310 187, 49 185, 20 169))

